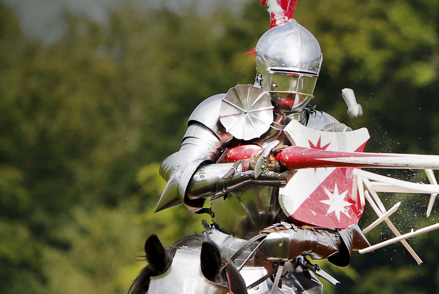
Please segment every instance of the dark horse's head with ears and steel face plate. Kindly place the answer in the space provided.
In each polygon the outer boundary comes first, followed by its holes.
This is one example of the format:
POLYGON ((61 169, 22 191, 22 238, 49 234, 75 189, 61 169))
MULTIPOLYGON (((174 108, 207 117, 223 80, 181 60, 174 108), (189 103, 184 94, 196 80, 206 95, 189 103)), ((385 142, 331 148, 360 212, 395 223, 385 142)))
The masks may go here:
POLYGON ((204 235, 185 237, 169 248, 156 235, 145 242, 142 269, 130 294, 247 294, 233 261, 204 235))

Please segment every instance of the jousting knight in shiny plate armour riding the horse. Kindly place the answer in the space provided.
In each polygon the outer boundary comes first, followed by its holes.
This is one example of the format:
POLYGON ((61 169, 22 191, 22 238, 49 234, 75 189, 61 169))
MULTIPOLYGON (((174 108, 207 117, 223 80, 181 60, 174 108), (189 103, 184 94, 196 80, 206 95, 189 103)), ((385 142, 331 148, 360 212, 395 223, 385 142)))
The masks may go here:
MULTIPOLYGON (((307 255, 349 265, 353 250, 369 246, 358 225, 305 228, 288 218, 278 193, 291 172, 273 155, 265 160, 265 171, 259 176, 254 170, 261 152, 244 160, 224 160, 227 151, 236 146, 255 145, 275 153, 291 145, 282 130, 292 120, 316 130, 351 131, 331 115, 308 106, 323 61, 317 39, 295 19, 286 17, 288 10, 277 11, 283 7, 276 0, 267 4, 273 27, 255 47, 254 85, 238 85, 227 94, 216 94, 193 111, 180 150, 160 167, 167 185, 156 212, 181 203, 188 211, 208 212, 212 224, 205 233, 229 256, 265 232, 266 239, 246 265, 270 271, 273 263, 282 262, 284 272, 277 293, 321 293, 321 283, 312 272, 305 273, 300 260, 307 255), (209 208, 203 208, 206 199, 209 208)), ((237 266, 255 244, 237 257, 237 266)))

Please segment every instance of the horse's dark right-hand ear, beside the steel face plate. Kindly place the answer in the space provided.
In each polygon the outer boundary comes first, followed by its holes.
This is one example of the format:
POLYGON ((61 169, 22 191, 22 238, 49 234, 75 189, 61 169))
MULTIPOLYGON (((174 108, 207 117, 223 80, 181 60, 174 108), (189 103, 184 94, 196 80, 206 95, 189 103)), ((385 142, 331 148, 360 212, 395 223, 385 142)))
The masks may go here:
POLYGON ((214 280, 223 266, 218 246, 203 242, 201 247, 201 272, 206 279, 214 280))

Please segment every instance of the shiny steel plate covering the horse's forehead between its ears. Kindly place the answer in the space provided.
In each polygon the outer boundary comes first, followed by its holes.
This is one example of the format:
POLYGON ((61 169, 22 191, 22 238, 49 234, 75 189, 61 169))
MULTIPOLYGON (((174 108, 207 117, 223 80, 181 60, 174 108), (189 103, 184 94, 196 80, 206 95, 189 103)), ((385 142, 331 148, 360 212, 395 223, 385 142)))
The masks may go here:
POLYGON ((228 294, 229 288, 210 282, 201 272, 200 251, 177 249, 170 268, 151 277, 148 294, 228 294))

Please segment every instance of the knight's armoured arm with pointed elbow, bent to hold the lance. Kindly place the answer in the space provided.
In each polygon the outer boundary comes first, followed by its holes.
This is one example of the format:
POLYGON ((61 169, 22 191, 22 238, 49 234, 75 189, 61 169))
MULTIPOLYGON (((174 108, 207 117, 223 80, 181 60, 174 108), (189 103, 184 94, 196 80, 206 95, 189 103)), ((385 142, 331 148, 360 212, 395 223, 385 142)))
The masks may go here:
POLYGON ((241 163, 215 163, 233 138, 219 122, 224 94, 203 101, 189 117, 180 150, 163 160, 160 175, 167 181, 155 211, 184 203, 189 211, 203 207, 205 198, 222 196, 248 183, 284 185, 286 178, 271 173, 254 178, 241 163), (224 177, 229 171, 227 177, 224 177))

